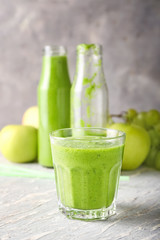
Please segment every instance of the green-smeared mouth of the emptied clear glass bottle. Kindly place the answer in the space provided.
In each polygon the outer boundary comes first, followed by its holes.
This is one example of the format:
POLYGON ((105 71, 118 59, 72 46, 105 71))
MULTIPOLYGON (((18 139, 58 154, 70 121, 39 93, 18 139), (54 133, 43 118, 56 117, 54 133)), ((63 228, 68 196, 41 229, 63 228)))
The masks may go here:
POLYGON ((77 46, 77 53, 79 54, 94 54, 101 55, 102 54, 102 45, 100 44, 79 44, 77 46))

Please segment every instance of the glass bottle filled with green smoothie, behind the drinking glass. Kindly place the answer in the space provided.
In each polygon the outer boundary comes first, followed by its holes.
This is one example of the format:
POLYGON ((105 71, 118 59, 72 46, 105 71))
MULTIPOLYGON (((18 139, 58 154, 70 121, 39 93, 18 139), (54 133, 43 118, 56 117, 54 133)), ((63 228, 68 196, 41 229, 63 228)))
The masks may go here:
POLYGON ((70 79, 63 46, 45 46, 38 86, 38 161, 52 167, 49 133, 70 127, 70 79))

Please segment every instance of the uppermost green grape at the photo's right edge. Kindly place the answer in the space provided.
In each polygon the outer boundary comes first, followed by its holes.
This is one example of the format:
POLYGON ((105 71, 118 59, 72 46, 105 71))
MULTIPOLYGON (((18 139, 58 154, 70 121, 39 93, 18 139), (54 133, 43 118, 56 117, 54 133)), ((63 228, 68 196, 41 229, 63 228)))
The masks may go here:
POLYGON ((149 112, 146 113, 146 126, 147 128, 153 127, 158 122, 160 122, 160 113, 152 109, 149 112))

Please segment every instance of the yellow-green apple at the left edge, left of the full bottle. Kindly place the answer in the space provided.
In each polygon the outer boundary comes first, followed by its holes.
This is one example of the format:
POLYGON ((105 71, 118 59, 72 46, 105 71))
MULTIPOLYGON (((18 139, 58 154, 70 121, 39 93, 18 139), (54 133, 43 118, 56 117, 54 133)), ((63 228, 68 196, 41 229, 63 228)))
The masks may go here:
POLYGON ((37 158, 37 129, 8 125, 0 133, 0 150, 11 162, 25 163, 37 158))

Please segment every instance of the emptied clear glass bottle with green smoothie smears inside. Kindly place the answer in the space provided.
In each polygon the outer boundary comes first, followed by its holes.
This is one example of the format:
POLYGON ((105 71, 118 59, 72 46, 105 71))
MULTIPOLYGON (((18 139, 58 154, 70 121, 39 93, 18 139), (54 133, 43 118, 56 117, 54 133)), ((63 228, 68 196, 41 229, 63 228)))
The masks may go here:
POLYGON ((71 88, 71 126, 106 128, 107 119, 108 89, 102 66, 102 47, 80 44, 71 88))

